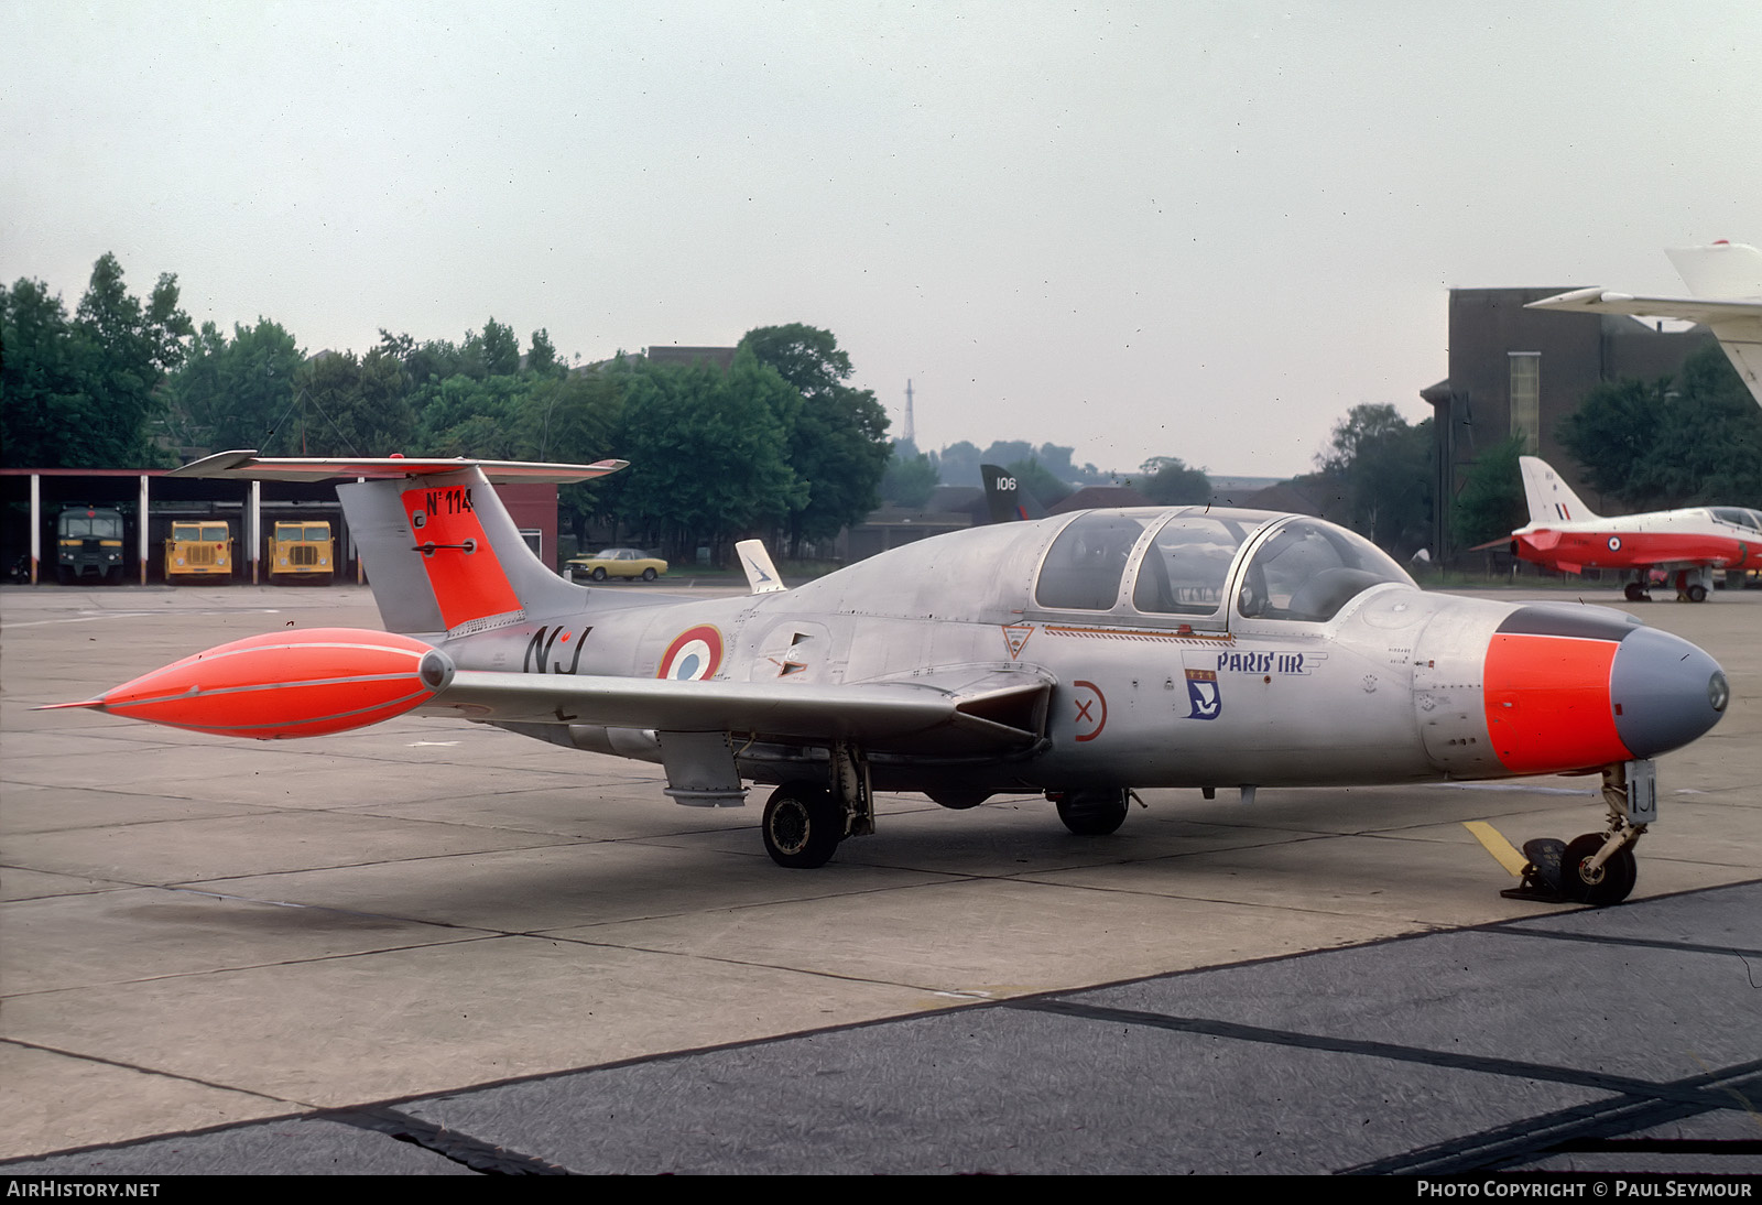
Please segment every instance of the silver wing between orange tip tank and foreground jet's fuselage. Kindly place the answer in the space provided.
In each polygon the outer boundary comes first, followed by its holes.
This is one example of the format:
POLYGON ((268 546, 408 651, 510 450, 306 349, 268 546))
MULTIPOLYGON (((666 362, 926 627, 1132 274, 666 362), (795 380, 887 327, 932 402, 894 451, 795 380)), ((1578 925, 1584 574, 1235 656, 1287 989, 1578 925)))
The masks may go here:
POLYGON ((855 740, 876 752, 988 754, 1033 747, 1052 682, 980 669, 909 682, 675 682, 456 669, 418 712, 495 724, 594 724, 758 740, 855 740))

